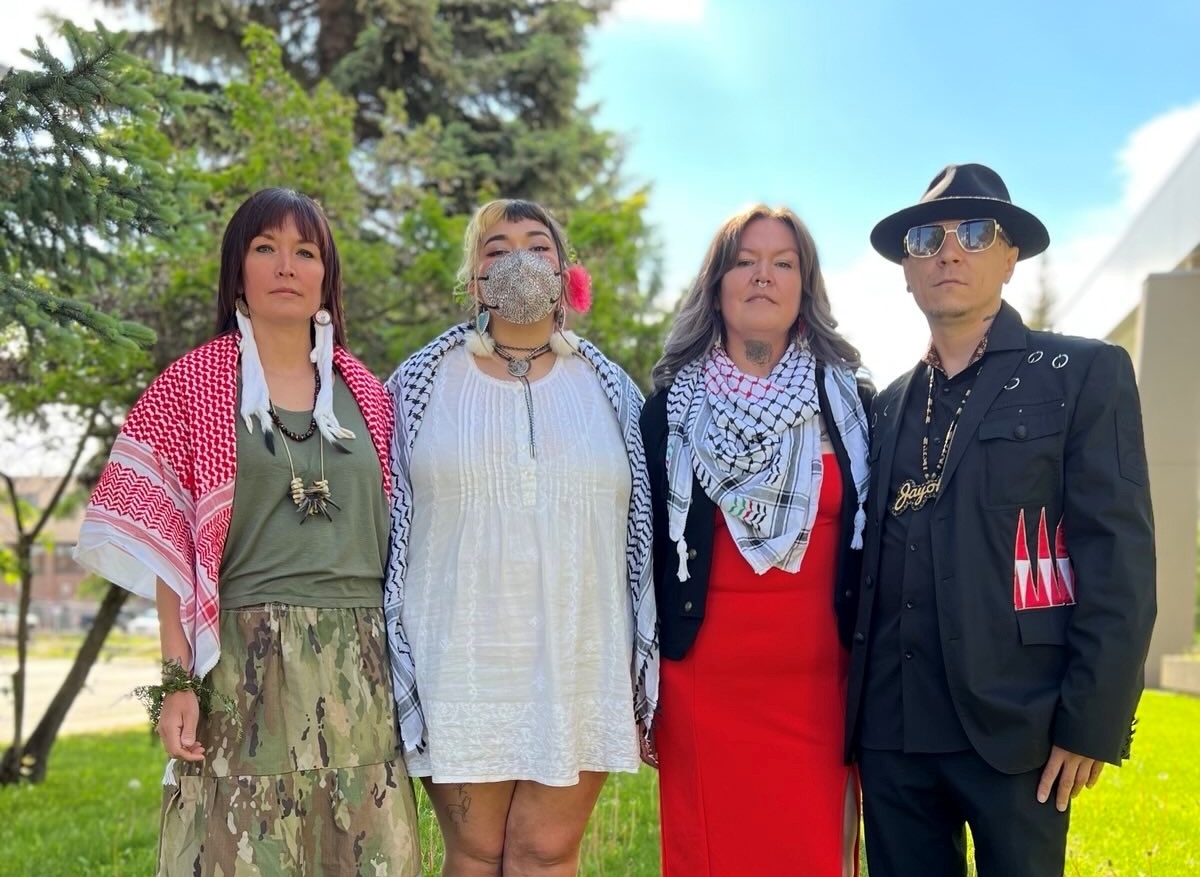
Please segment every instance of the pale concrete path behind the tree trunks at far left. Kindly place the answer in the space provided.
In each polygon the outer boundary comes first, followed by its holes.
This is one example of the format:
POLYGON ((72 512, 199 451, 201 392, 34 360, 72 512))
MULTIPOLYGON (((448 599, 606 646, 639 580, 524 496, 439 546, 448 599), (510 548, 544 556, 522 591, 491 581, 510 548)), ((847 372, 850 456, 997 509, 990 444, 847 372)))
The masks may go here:
MULTIPOLYGON (((0 745, 12 740, 12 673, 17 661, 0 657, 0 745)), ((46 705, 59 690, 71 668, 66 659, 36 659, 26 665, 25 734, 37 726, 46 705)), ((64 734, 148 726, 145 709, 130 693, 138 685, 157 680, 154 661, 114 657, 101 659, 91 668, 88 681, 76 697, 62 725, 64 734)))

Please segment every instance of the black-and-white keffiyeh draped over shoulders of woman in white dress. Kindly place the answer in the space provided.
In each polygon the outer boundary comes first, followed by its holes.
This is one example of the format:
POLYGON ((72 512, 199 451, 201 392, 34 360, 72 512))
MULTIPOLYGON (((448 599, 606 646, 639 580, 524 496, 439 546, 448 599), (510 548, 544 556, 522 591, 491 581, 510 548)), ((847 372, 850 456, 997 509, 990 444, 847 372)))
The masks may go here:
MULTIPOLYGON (((408 571, 408 536, 413 522, 413 483, 409 464, 416 433, 430 406, 434 376, 443 358, 467 342, 474 331, 468 324, 454 326, 409 356, 388 379, 386 390, 396 409, 391 444, 391 540, 384 573, 384 615, 391 657, 392 689, 400 733, 407 751, 424 750, 425 714, 416 690, 413 650, 401 624, 404 606, 404 577, 408 571)), ((650 479, 638 416, 642 392, 624 371, 587 341, 577 344, 578 355, 595 370, 600 386, 612 404, 629 455, 632 489, 629 498, 629 525, 625 533, 625 564, 634 614, 634 715, 649 728, 659 698, 659 636, 654 585, 650 578, 650 479)))

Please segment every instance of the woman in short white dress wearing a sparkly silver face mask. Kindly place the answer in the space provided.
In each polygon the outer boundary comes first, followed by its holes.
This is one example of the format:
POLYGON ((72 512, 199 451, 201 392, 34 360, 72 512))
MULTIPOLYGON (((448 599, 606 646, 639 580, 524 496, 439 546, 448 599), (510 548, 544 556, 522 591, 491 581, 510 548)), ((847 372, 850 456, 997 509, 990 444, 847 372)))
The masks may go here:
POLYGON ((568 252, 540 205, 485 204, 474 318, 388 382, 392 675, 448 877, 574 875, 658 697, 642 395, 564 329, 590 304, 568 252))

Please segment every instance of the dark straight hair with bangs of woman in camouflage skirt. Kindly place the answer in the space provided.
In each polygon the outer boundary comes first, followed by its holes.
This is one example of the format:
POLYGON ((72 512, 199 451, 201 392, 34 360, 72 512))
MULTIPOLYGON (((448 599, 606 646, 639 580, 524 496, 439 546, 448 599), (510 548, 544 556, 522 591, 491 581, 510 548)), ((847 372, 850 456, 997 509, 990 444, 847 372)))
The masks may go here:
POLYGON ((217 335, 235 331, 234 307, 242 294, 246 253, 264 232, 282 228, 290 218, 300 236, 320 251, 325 276, 320 282, 320 306, 334 322, 334 343, 346 347, 346 311, 342 306, 342 263, 337 257, 329 220, 312 198, 290 188, 259 190, 238 208, 221 240, 221 276, 217 281, 217 335))

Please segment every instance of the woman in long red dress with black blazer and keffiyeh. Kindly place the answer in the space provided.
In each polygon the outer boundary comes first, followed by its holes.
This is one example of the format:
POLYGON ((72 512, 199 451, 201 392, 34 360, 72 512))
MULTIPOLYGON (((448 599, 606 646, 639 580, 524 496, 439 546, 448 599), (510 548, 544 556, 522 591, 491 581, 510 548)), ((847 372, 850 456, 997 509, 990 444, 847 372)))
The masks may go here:
POLYGON ((642 410, 664 877, 857 871, 842 763, 870 388, 787 209, 718 232, 642 410))

